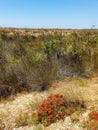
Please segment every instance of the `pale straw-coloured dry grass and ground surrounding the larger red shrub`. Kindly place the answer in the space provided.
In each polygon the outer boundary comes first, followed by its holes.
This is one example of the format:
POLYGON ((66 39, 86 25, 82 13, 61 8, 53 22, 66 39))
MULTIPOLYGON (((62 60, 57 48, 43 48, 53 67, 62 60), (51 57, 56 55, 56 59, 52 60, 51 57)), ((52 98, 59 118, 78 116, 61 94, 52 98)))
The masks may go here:
MULTIPOLYGON (((28 112, 28 114, 31 114, 32 112, 35 111, 37 104, 40 103, 43 99, 47 98, 49 94, 58 93, 58 92, 59 94, 63 94, 67 99, 69 98, 69 100, 75 100, 75 99, 83 100, 87 105, 87 111, 91 109, 97 110, 98 109, 98 78, 94 77, 92 78, 92 80, 84 79, 83 81, 87 83, 87 86, 81 87, 77 79, 67 79, 65 81, 60 81, 58 83, 55 83, 49 91, 35 92, 35 93, 32 92, 30 94, 28 93, 18 94, 15 97, 15 99, 11 101, 6 101, 5 103, 2 101, 2 103, 0 104, 0 112, 3 113, 3 123, 6 125, 6 128, 8 128, 8 130, 14 128, 16 126, 15 120, 19 116, 21 116, 21 114, 25 112, 28 112)), ((84 118, 84 117, 81 116, 81 118, 84 118)), ((26 117, 25 119, 28 119, 28 118, 26 117)), ((74 117, 73 120, 80 120, 79 115, 78 115, 78 119, 75 119, 74 117)), ((23 122, 22 121, 23 120, 20 120, 18 123, 23 124, 24 121, 23 122)), ((46 128, 46 129, 55 130, 57 127, 61 129, 61 122, 64 125, 66 124, 66 121, 65 122, 60 121, 58 123, 52 124, 51 126, 49 126, 49 128, 46 128)), ((31 121, 32 122, 31 123, 30 120, 29 121, 25 120, 25 122, 28 124, 28 126, 33 124, 33 122, 31 121)), ((31 128, 33 127, 34 126, 32 126, 31 128)), ((30 127, 28 127, 27 130, 29 130, 29 128, 30 127)), ((21 130, 23 130, 23 128, 21 128, 21 130)), ((77 130, 80 130, 80 129, 77 129, 77 130)))

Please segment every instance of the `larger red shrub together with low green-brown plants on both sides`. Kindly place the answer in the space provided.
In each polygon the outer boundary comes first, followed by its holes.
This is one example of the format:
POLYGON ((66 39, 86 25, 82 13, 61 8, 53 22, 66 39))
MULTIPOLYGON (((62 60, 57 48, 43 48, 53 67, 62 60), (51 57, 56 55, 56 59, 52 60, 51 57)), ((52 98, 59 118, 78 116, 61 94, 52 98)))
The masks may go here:
POLYGON ((83 102, 67 102, 63 95, 51 94, 36 106, 35 112, 22 112, 23 115, 20 114, 16 118, 16 125, 29 126, 42 124, 43 126, 49 126, 56 121, 72 115, 76 111, 82 111, 82 109, 85 109, 83 102))

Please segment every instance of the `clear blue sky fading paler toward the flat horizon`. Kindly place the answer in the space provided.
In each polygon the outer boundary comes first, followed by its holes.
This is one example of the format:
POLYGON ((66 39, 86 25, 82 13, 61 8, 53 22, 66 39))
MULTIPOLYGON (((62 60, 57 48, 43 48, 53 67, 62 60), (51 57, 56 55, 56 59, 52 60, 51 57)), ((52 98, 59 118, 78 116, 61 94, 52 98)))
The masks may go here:
POLYGON ((0 0, 0 27, 98 28, 98 0, 0 0))

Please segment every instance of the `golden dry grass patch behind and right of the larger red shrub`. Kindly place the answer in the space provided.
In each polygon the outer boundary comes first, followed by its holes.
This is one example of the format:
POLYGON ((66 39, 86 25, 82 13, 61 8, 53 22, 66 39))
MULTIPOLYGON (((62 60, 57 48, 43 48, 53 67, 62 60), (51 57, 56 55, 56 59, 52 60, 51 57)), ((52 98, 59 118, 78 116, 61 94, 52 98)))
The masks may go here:
POLYGON ((98 107, 98 78, 81 79, 83 86, 80 84, 80 79, 66 79, 59 83, 55 83, 50 92, 63 94, 69 100, 84 101, 88 106, 98 107), (85 84, 85 86, 84 86, 85 84))

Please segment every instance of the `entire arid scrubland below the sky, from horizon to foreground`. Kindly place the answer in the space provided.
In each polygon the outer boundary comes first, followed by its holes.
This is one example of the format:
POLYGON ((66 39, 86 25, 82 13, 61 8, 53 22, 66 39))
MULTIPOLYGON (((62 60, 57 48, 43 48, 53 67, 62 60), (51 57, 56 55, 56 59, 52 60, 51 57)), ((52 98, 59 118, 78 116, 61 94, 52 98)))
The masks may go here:
POLYGON ((98 30, 0 28, 0 130, 98 130, 98 30))

